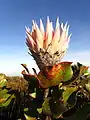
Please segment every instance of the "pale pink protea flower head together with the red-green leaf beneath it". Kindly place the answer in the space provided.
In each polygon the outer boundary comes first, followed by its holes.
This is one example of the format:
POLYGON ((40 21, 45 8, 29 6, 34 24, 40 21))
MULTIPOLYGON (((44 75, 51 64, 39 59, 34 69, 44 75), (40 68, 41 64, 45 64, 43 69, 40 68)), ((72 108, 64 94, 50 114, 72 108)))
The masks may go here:
POLYGON ((56 21, 54 30, 52 22, 47 17, 46 31, 40 19, 40 28, 32 21, 32 31, 26 28, 26 44, 35 59, 40 72, 36 75, 43 88, 58 85, 72 77, 72 62, 61 62, 64 57, 71 35, 68 35, 69 25, 56 21))

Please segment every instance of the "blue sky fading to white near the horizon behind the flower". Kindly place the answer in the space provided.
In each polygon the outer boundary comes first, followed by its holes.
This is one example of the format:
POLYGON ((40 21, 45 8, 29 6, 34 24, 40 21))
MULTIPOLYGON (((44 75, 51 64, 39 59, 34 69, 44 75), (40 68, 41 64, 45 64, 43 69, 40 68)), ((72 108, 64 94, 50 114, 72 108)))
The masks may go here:
POLYGON ((72 33, 64 60, 90 65, 90 0, 0 0, 0 73, 20 75, 21 63, 37 66, 25 45, 25 26, 41 18, 68 21, 72 33))

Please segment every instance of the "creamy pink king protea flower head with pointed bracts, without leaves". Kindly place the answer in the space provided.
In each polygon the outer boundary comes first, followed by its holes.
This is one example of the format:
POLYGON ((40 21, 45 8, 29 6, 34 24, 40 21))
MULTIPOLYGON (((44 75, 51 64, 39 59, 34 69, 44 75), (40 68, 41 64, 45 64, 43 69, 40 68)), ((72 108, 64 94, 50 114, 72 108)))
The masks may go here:
POLYGON ((71 37, 71 34, 68 35, 68 30, 69 25, 60 24, 59 18, 54 29, 49 17, 47 17, 46 30, 41 19, 40 28, 34 20, 32 31, 26 28, 26 44, 40 69, 59 63, 64 57, 71 37))

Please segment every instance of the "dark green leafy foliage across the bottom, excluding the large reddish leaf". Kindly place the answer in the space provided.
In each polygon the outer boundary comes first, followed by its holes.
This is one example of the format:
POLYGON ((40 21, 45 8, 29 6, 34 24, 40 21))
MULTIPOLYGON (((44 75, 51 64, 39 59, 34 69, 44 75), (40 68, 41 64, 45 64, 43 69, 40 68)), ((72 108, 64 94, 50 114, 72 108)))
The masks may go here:
POLYGON ((36 74, 31 75, 23 66, 26 70, 22 72, 23 78, 0 74, 0 119, 90 119, 90 73, 87 66, 72 65, 71 79, 48 88, 42 88, 36 74))

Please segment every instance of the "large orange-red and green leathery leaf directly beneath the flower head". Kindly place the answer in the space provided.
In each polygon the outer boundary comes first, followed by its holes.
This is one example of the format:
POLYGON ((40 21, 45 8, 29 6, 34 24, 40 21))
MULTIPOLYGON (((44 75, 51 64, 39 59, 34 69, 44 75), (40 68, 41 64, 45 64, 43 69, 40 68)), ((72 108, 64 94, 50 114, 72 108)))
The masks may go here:
POLYGON ((61 62, 54 66, 44 67, 38 74, 38 80, 43 88, 59 85, 72 78, 72 62, 61 62))

